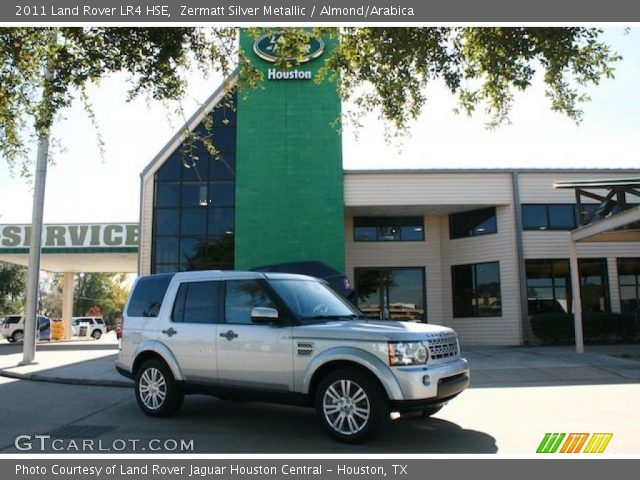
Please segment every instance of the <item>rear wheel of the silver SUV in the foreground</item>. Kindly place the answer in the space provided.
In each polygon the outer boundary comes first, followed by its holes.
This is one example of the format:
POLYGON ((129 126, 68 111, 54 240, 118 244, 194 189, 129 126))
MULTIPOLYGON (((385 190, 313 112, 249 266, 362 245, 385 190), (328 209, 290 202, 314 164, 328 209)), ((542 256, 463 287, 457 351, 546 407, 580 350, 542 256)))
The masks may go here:
POLYGON ((140 409, 150 417, 169 417, 184 401, 169 368, 158 359, 147 360, 136 374, 136 400, 140 409))

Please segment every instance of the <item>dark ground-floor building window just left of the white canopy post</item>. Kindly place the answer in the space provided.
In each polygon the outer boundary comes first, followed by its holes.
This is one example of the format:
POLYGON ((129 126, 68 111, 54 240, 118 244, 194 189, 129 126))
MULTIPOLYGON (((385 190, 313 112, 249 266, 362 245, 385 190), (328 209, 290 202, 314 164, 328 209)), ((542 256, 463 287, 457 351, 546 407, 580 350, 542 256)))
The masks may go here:
POLYGON ((529 315, 572 310, 569 260, 526 260, 529 315))

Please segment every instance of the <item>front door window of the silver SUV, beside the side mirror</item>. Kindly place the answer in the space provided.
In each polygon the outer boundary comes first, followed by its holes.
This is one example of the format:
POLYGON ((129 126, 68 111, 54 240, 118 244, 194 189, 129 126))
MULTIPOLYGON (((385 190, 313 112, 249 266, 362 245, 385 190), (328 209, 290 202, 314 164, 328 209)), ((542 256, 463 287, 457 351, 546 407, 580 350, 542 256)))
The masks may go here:
POLYGON ((225 293, 226 323, 248 325, 255 307, 276 308, 264 287, 255 280, 229 280, 225 293))

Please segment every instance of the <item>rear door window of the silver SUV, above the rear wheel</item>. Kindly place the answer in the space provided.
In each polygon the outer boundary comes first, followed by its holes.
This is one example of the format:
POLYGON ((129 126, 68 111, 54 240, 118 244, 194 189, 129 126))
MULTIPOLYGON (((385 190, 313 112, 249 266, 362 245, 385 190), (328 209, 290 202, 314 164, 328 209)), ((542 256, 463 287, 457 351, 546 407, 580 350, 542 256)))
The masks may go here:
POLYGON ((217 323, 222 282, 189 282, 178 289, 171 319, 181 323, 217 323))

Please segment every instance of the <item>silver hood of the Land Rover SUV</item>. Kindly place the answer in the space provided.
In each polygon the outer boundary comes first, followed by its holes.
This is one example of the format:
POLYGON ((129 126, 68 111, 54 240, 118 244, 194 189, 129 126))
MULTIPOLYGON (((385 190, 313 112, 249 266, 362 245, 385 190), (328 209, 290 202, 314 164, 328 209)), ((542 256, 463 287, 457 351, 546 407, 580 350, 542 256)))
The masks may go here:
POLYGON ((398 322, 394 320, 340 320, 312 325, 300 325, 293 329, 296 339, 416 341, 455 334, 440 325, 398 322))

